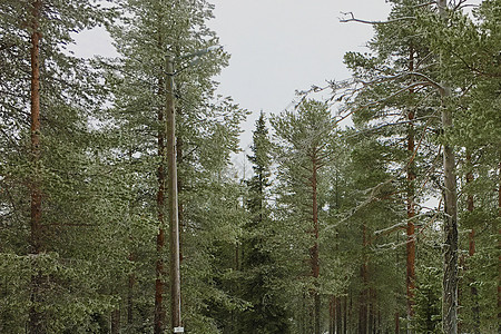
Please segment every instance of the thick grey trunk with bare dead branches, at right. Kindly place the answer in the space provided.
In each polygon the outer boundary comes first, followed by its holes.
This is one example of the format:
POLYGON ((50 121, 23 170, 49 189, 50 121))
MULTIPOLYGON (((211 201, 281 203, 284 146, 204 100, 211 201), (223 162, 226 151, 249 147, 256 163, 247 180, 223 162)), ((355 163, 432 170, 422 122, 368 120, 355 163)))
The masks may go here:
MULTIPOLYGON (((439 12, 445 21, 448 1, 439 0, 439 12)), ((442 84, 442 127, 446 134, 452 128, 452 111, 448 108, 451 88, 442 84)), ((443 281, 442 281, 442 328, 448 334, 458 333, 458 190, 455 179, 454 149, 445 143, 443 147, 444 177, 444 242, 443 242, 443 281)))

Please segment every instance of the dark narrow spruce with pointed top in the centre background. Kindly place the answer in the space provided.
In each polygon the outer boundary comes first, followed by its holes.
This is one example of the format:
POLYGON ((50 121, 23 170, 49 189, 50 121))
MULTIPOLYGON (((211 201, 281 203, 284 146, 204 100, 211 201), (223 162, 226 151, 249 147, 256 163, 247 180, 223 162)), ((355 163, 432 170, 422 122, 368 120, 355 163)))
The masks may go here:
POLYGON ((273 287, 283 273, 271 254, 271 244, 278 232, 268 204, 272 143, 263 111, 256 121, 250 149, 247 158, 253 164, 254 175, 246 181, 249 218, 244 226, 240 293, 252 307, 242 313, 238 333, 287 333, 286 313, 273 287))

